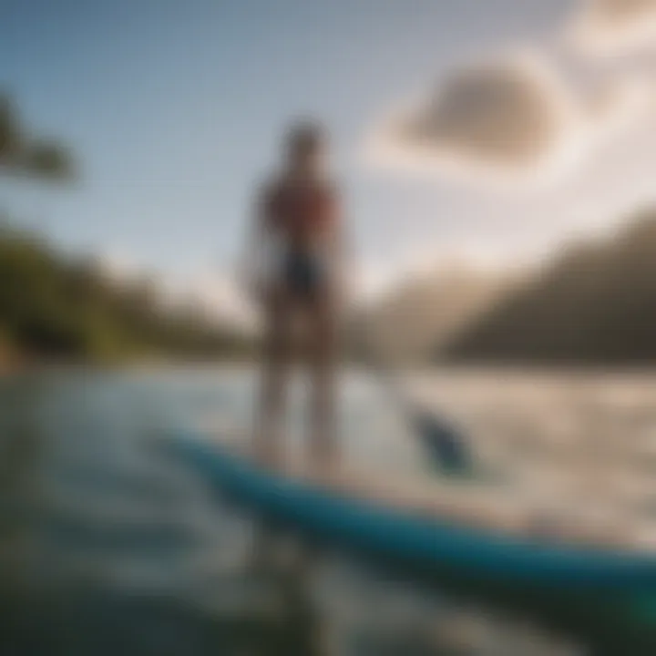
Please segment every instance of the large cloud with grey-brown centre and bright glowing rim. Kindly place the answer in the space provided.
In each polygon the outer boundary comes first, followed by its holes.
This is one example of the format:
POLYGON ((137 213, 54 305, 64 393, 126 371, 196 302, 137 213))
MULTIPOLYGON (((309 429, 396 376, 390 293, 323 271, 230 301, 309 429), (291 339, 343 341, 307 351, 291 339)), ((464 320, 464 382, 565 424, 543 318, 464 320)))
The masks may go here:
POLYGON ((497 180, 547 174, 572 156, 577 107, 541 57, 522 53, 456 70, 436 91, 384 118, 374 164, 497 180))

